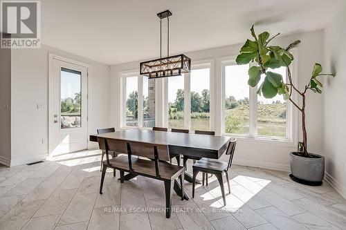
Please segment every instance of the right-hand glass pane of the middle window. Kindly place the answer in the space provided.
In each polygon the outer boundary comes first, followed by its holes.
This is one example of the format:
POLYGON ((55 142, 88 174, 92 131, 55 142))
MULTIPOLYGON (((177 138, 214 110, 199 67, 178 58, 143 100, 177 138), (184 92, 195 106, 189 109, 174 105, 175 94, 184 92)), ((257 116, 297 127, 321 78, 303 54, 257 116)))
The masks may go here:
POLYGON ((191 130, 210 130, 210 69, 191 70, 191 130))

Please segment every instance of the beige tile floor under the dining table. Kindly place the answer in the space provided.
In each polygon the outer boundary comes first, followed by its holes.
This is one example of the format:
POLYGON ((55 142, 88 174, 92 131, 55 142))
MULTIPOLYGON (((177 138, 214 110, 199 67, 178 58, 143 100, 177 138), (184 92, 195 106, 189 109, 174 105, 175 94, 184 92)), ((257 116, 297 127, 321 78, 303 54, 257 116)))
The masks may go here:
POLYGON ((174 194, 170 219, 163 182, 116 178, 109 171, 98 193, 98 150, 1 168, 0 229, 346 229, 346 201, 329 184, 304 186, 286 172, 234 165, 225 207, 215 177, 194 199, 185 182, 190 200, 174 194))

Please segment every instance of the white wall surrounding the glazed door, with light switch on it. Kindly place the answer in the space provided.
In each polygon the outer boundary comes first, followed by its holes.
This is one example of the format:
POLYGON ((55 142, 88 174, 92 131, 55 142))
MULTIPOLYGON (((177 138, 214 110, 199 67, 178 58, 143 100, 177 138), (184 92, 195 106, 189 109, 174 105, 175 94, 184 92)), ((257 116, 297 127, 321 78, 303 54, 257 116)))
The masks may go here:
POLYGON ((11 165, 42 160, 48 155, 48 52, 90 65, 89 133, 109 124, 109 66, 43 44, 39 49, 13 49, 11 165), (38 103, 46 104, 46 108, 37 109, 38 103))

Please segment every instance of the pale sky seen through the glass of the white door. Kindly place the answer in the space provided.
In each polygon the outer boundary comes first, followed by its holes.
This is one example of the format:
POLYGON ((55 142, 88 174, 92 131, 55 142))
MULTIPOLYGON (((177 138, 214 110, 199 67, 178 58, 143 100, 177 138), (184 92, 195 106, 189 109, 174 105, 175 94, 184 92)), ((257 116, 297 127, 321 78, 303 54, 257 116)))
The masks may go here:
POLYGON ((80 75, 61 71, 61 98, 75 98, 75 93, 80 93, 80 75))

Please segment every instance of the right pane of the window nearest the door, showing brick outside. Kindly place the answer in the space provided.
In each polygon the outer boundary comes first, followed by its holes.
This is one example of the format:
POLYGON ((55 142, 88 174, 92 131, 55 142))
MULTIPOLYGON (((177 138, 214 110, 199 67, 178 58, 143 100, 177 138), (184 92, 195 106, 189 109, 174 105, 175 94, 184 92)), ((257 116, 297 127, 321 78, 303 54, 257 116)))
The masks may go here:
POLYGON ((155 126, 155 79, 143 77, 143 127, 155 126))

